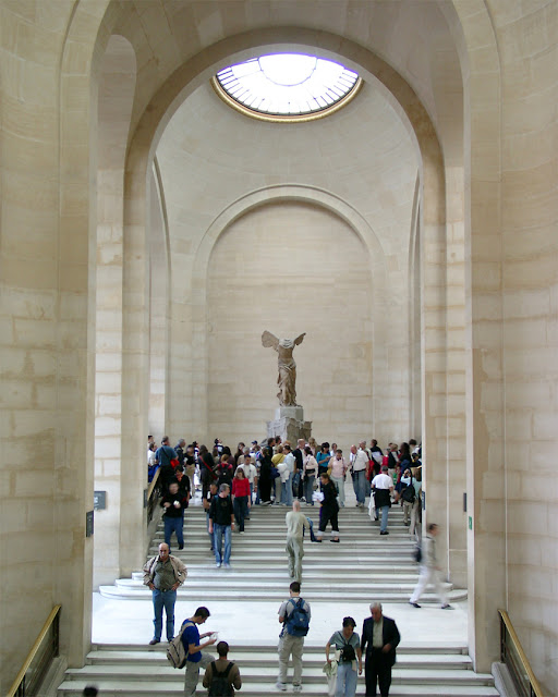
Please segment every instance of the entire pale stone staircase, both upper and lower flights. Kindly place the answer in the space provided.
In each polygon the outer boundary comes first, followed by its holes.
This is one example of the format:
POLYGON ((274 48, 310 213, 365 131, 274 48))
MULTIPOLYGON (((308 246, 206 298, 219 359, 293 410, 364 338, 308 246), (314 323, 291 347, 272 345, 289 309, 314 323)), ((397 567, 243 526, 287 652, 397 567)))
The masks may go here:
MULTIPOLYGON (((290 578, 284 552, 283 506, 254 506, 252 519, 246 523, 244 535, 234 534, 232 540, 231 570, 216 568, 209 549, 205 527, 205 513, 196 501, 186 512, 184 523, 185 548, 178 551, 174 539, 172 553, 187 565, 187 580, 179 590, 179 600, 192 600, 195 604, 217 603, 246 604, 248 616, 267 612, 262 601, 281 601, 286 597, 290 578), (246 589, 257 589, 250 592, 246 589), (257 608, 262 608, 259 611, 257 608)), ((317 528, 318 510, 303 506, 317 528)), ((303 563, 303 590, 316 610, 330 615, 339 604, 340 589, 343 603, 364 603, 371 599, 384 602, 407 603, 417 577, 413 561, 413 541, 403 526, 402 512, 393 508, 390 512, 389 536, 379 536, 378 523, 369 519, 366 511, 348 506, 340 512, 341 543, 331 545, 329 536, 324 542, 305 541, 303 563), (318 603, 318 604, 316 604, 318 603), (335 607, 332 603, 336 603, 335 607)), ((155 554, 162 541, 162 524, 159 525, 149 553, 155 554)), ((114 586, 104 586, 100 592, 106 598, 118 600, 151 599, 151 594, 142 583, 137 572, 132 578, 118 579, 114 586)), ((450 585, 450 600, 466 598, 466 591, 450 585)), ((421 603, 425 607, 436 602, 425 595, 421 603)), ((126 604, 126 603, 124 603, 126 604)), ((133 603, 132 606, 133 607, 133 603)), ((278 606, 274 604, 272 612, 278 606)), ((413 612, 415 612, 413 610, 413 612)), ((425 611, 421 611, 425 612, 425 611)), ((313 612, 314 616, 314 612, 313 612)), ((421 616, 421 615, 418 615, 421 616)), ((422 615, 425 621, 426 616, 422 615)), ((177 617, 179 620, 179 617, 177 617)), ((317 620, 314 621, 315 623, 317 620)), ((314 635, 320 633, 315 627, 314 635)), ((432 636, 432 632, 428 636, 432 636)), ((265 640, 243 639, 243 627, 234 636, 231 658, 241 667, 243 686, 241 694, 269 697, 279 694, 277 680, 277 625, 265 640)), ((436 635, 437 636, 437 635, 436 635)), ((427 640, 413 644, 403 636, 398 648, 398 662, 393 669, 391 697, 495 697, 492 675, 481 675, 472 670, 466 647, 460 643, 427 640)), ((78 697, 87 684, 99 687, 102 697, 137 697, 153 695, 182 695, 183 671, 172 669, 165 655, 166 644, 157 646, 97 644, 92 647, 83 669, 70 669, 59 687, 59 695, 78 697)), ((311 635, 304 648, 303 694, 327 695, 324 665, 324 643, 311 635)), ((364 678, 359 678, 357 694, 364 690, 364 678)), ((205 695, 199 683, 197 693, 205 695)))

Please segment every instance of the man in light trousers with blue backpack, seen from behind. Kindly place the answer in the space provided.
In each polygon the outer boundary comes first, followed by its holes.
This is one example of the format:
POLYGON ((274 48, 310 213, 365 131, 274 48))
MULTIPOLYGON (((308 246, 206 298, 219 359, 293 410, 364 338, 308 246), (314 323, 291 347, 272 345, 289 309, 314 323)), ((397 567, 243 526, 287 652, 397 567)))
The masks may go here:
POLYGON ((301 598, 301 585, 293 580, 289 586, 290 598, 279 608, 279 622, 283 625, 279 635, 279 677, 276 687, 287 690, 287 668, 292 655, 292 687, 293 692, 302 690, 302 652, 304 637, 308 633, 311 610, 310 604, 301 598))

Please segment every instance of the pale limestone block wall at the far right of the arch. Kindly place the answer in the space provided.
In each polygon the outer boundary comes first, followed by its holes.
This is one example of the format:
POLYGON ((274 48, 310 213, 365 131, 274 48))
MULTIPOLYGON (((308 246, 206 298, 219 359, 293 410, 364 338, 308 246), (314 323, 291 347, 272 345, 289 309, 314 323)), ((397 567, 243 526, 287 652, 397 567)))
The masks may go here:
MULTIPOLYGON (((508 608, 550 695, 558 685, 558 5, 504 4, 495 24, 502 65, 508 608)), ((493 486, 501 488, 501 479, 493 486)))

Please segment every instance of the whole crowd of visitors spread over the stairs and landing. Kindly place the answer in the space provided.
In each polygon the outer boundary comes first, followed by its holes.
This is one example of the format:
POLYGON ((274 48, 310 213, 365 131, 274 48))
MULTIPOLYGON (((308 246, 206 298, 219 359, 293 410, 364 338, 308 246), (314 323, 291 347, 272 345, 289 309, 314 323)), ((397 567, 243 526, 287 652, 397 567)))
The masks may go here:
MULTIPOLYGON (((186 568, 180 559, 170 554, 170 543, 174 534, 178 549, 183 549, 184 511, 196 491, 201 491, 210 548, 218 568, 231 567, 232 534, 234 530, 240 535, 244 533, 245 521, 250 519, 254 505, 288 506, 286 549, 289 572, 294 580, 289 599, 279 609, 282 629, 277 687, 287 689, 287 669, 292 658, 293 689, 299 692, 302 647, 311 619, 310 604, 300 596, 304 536, 310 533, 311 541, 322 542, 330 525, 330 541, 340 542, 339 512, 347 503, 345 485, 349 480, 352 481, 359 509, 365 509, 369 497, 368 512, 372 518, 380 521, 379 535, 389 535, 389 510, 401 505, 404 525, 411 536, 420 539, 422 466, 421 447, 414 440, 400 447, 389 443, 385 451, 375 439, 369 445, 362 441, 352 445, 345 456, 337 443, 323 442, 318 445, 313 439, 308 442, 299 440, 294 449, 293 444, 282 442, 280 438, 269 438, 260 443, 254 440, 250 447, 240 442, 233 454, 219 439, 209 451, 196 441, 186 445, 184 439, 172 448, 168 437, 163 437, 157 448, 149 436, 148 479, 151 480, 159 470, 161 506, 165 509, 165 543, 159 546, 159 554, 148 560, 144 567, 144 583, 151 589, 155 614, 150 644, 161 640, 163 610, 167 614, 167 639, 173 637, 177 588, 184 583, 186 568), (302 506, 319 508, 316 535, 313 521, 302 506)), ((414 608, 420 608, 417 600, 428 583, 438 590, 442 607, 450 608, 437 576, 436 535, 437 526, 430 525, 422 554, 421 577, 410 600, 414 608)), ((363 672, 363 659, 366 695, 375 695, 376 685, 383 696, 388 695, 400 636, 396 623, 383 615, 379 603, 372 604, 371 612, 361 637, 354 631, 354 620, 347 616, 342 628, 326 645, 325 670, 335 665, 335 695, 339 697, 355 694, 356 676, 363 672)), ((195 694, 201 668, 206 668, 203 684, 209 689, 214 680, 230 688, 227 694, 233 694, 233 689, 239 689, 242 684, 238 667, 228 660, 229 646, 226 641, 217 646, 218 658, 204 652, 203 649, 217 643, 213 633, 201 635, 198 632, 198 625, 208 616, 207 608, 198 608, 181 627, 180 636, 186 653, 185 695, 195 694)))

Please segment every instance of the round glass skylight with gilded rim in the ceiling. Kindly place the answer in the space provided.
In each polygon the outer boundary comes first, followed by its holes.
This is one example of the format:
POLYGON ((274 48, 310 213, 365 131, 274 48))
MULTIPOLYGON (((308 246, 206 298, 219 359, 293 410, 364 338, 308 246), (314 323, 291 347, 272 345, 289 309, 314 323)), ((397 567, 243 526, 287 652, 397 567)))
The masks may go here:
POLYGON ((352 98, 360 84, 359 75, 343 65, 300 53, 252 58, 225 68, 214 80, 229 103, 271 121, 325 115, 352 98))

